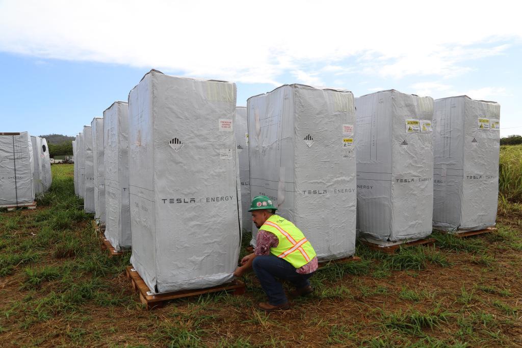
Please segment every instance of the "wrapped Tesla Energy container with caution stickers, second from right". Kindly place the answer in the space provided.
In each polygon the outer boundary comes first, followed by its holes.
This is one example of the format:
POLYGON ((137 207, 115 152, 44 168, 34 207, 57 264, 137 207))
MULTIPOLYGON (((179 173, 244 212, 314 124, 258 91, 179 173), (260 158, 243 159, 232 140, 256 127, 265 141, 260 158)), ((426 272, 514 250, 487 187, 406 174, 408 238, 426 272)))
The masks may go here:
POLYGON ((433 99, 387 90, 355 98, 357 215, 369 241, 431 234, 433 99))

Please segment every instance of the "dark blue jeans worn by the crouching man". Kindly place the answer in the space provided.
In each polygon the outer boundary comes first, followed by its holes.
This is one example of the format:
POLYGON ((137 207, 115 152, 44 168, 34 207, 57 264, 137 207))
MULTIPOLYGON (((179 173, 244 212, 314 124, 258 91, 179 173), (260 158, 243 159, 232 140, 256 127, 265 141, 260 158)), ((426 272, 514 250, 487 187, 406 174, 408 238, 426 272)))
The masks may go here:
POLYGON ((275 255, 257 256, 252 262, 252 268, 268 296, 268 303, 272 306, 288 302, 283 285, 276 278, 289 281, 296 289, 301 289, 301 287, 310 285, 308 279, 314 274, 314 272, 299 274, 290 262, 275 255))

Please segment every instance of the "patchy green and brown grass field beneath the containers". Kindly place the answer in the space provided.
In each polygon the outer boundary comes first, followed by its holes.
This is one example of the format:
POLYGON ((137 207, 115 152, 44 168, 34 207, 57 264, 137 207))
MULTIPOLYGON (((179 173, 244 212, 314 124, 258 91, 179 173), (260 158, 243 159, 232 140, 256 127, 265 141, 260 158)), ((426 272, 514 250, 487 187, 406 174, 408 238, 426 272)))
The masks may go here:
POLYGON ((123 275, 130 255, 100 249, 73 166, 54 165, 36 210, 0 213, 0 345, 521 346, 521 158, 502 149, 496 233, 434 234, 436 247, 396 255, 358 245, 360 262, 319 270, 313 296, 272 314, 255 308, 264 294, 250 276, 244 296, 144 310, 123 275))

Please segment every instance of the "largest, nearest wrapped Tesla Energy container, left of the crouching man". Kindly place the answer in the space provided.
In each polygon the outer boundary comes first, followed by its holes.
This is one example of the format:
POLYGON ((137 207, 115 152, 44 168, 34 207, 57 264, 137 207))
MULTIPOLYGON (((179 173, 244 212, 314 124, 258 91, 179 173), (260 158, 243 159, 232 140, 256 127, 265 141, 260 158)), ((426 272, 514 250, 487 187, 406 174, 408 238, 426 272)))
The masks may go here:
POLYGON ((151 70, 128 100, 132 265, 153 292, 232 280, 241 244, 235 84, 151 70))

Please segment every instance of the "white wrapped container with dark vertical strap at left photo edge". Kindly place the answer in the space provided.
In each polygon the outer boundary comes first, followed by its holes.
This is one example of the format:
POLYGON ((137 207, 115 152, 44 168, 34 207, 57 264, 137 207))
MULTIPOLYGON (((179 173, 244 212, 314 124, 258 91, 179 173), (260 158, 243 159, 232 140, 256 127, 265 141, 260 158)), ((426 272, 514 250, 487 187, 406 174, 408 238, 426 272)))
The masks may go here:
POLYGON ((27 131, 0 133, 0 207, 34 201, 33 151, 27 131))

